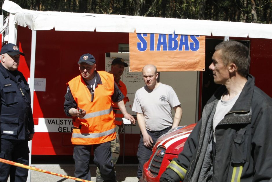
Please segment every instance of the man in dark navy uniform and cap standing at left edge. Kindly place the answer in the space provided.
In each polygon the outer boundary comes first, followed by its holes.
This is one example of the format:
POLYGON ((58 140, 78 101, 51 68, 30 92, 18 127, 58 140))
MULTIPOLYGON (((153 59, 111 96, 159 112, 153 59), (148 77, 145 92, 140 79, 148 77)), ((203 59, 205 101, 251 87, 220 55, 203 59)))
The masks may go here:
MULTIPOLYGON (((30 89, 23 74, 18 71, 20 55, 15 44, 1 49, 0 64, 0 158, 28 165, 28 141, 34 135, 30 89)), ((26 181, 28 170, 0 162, 0 181, 26 181)))

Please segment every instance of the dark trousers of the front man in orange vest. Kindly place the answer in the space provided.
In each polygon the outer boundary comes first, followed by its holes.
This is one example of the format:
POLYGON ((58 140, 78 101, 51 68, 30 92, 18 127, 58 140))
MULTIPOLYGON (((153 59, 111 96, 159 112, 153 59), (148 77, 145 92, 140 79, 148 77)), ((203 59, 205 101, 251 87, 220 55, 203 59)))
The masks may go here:
POLYGON ((75 161, 75 177, 91 181, 89 167, 91 147, 94 151, 93 162, 99 168, 105 182, 115 182, 113 163, 111 162, 111 142, 95 145, 75 145, 73 159, 75 161))

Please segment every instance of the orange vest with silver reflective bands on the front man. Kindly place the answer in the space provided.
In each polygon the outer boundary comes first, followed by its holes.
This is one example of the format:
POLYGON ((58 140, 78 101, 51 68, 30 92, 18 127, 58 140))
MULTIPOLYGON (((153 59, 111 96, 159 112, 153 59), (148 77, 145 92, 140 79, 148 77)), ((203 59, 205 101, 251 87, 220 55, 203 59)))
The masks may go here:
POLYGON ((105 143, 115 138, 115 124, 111 96, 114 92, 113 75, 105 71, 97 71, 102 84, 95 87, 94 99, 81 75, 67 84, 74 100, 80 109, 86 111, 83 118, 73 117, 72 143, 76 145, 92 145, 105 143))

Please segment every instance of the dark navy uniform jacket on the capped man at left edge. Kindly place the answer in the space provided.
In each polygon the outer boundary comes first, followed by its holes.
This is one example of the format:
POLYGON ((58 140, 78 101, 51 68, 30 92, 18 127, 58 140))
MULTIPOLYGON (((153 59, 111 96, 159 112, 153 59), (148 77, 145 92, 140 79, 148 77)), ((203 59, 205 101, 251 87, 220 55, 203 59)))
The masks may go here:
POLYGON ((20 71, 9 71, 0 63, 1 138, 27 140, 34 134, 30 89, 20 71))

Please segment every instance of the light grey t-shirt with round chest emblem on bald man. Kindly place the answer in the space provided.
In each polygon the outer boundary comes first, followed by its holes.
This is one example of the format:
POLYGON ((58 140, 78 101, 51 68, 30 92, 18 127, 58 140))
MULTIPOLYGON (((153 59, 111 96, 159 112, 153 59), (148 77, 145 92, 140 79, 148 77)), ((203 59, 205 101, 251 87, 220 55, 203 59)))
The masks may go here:
POLYGON ((180 105, 172 87, 160 83, 154 90, 146 86, 136 91, 132 111, 144 114, 146 129, 160 131, 172 126, 172 108, 180 105))

